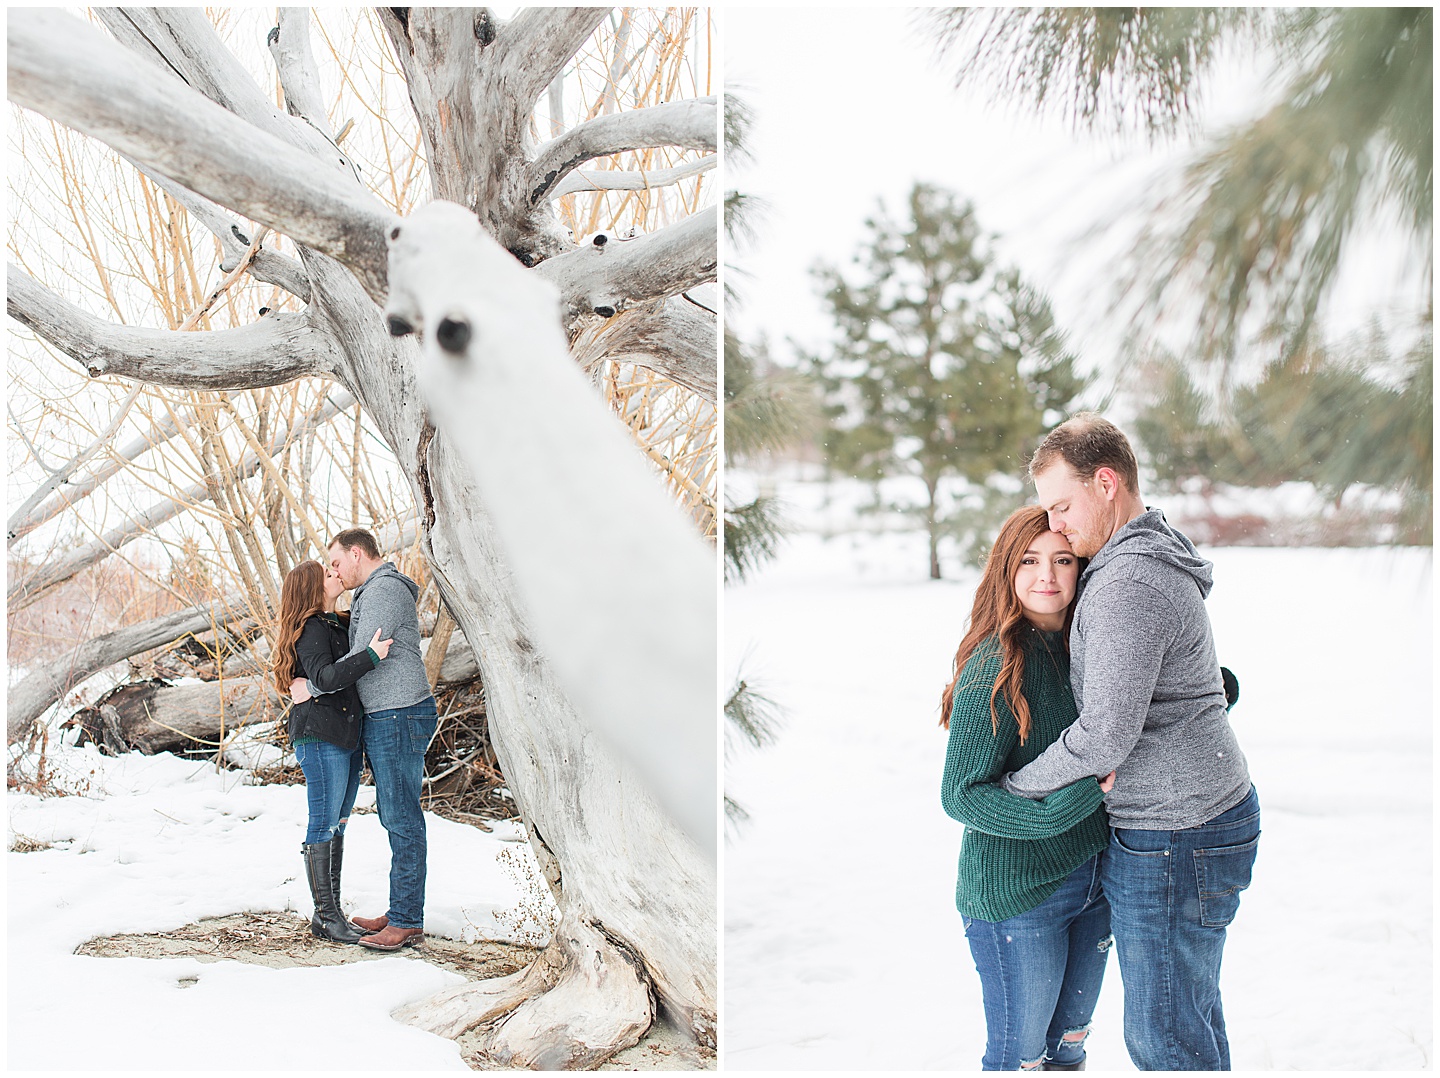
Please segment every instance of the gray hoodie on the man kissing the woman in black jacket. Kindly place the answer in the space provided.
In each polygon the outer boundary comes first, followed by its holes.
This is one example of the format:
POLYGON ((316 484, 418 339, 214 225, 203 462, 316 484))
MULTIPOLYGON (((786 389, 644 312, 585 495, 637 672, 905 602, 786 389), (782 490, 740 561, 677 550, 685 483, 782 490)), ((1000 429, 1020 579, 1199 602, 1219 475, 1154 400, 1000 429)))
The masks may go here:
POLYGON ((420 619, 415 603, 420 586, 386 561, 350 600, 350 652, 364 651, 376 629, 395 640, 380 665, 356 682, 366 712, 408 708, 431 697, 420 658, 420 619))

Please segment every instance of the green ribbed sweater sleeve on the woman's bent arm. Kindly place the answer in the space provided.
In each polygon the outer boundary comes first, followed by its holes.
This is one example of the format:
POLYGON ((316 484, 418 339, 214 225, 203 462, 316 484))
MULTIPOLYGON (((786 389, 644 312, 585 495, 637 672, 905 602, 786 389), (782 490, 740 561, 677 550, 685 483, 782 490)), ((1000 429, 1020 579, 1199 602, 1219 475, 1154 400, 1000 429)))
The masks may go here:
MULTIPOLYGON (((1008 793, 998 780, 1009 767, 1007 761, 1020 741, 1015 718, 996 697, 998 728, 991 725, 989 697, 999 676, 999 653, 982 645, 965 663, 955 687, 950 707, 950 737, 945 753, 940 802, 945 812, 968 828, 1011 839, 1045 839, 1061 835, 1089 817, 1104 802, 1100 784, 1092 777, 1031 800, 1008 793)), ((1032 684, 1037 678, 1030 676, 1032 684)), ((1047 687, 1048 688, 1048 687, 1047 687)), ((1058 684, 1056 689, 1064 689, 1058 684)), ((1041 708, 1056 705, 1050 692, 1027 695, 1032 721, 1041 708)), ((1014 766, 1014 764, 1011 764, 1014 766)))

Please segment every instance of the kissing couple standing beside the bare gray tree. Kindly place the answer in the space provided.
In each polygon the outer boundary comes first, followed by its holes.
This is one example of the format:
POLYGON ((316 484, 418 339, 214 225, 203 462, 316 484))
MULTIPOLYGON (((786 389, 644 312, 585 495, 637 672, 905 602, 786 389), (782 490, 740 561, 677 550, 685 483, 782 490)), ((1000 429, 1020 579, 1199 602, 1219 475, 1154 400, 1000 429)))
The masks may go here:
POLYGON ((301 853, 324 940, 396 951, 419 943, 425 910, 420 783, 436 708, 416 613, 419 587, 380 560, 363 528, 330 541, 330 566, 302 561, 281 587, 271 672, 289 695, 289 741, 305 773, 310 820, 301 853), (336 600, 351 590, 348 615, 336 600), (390 838, 390 908, 347 920, 340 905, 346 823, 369 757, 380 826, 390 838))

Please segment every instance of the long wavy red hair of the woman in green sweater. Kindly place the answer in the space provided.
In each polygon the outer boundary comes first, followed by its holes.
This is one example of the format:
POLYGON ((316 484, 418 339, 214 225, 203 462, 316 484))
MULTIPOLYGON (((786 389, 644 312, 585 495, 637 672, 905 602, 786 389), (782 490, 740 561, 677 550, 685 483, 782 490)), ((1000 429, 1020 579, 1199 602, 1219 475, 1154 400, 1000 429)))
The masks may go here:
MULTIPOLYGON (((950 684, 945 687, 940 697, 940 725, 949 730, 950 707, 955 702, 956 682, 966 661, 975 649, 989 636, 999 640, 999 676, 991 689, 991 728, 999 733, 999 715, 995 712, 995 698, 1005 695, 1015 723, 1020 725, 1020 743, 1024 744, 1030 735, 1030 705, 1021 691, 1025 676, 1025 649, 1021 638, 1027 628, 1025 610, 1015 594, 1015 574, 1020 573, 1020 561, 1030 550, 1031 544, 1044 533, 1050 531, 1050 520, 1038 505, 1025 505, 1015 509, 999 528, 995 545, 991 547, 985 558, 985 570, 981 573, 979 587, 975 589, 975 606, 971 610, 971 626, 955 652, 955 671, 950 684)), ((1079 567, 1084 570, 1084 558, 1077 558, 1079 567)), ((1066 610, 1066 639, 1070 633, 1070 616, 1074 613, 1074 603, 1066 610)))

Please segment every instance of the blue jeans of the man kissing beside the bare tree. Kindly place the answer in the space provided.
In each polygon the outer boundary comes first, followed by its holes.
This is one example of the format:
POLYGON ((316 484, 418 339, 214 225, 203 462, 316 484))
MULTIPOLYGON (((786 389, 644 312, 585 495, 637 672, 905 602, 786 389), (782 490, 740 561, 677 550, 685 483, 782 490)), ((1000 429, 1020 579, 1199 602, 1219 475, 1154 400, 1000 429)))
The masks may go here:
POLYGON ((408 708, 367 711, 364 717, 364 754, 374 773, 380 826, 390 836, 390 908, 384 915, 399 928, 425 925, 420 782, 435 721, 433 697, 408 708))

